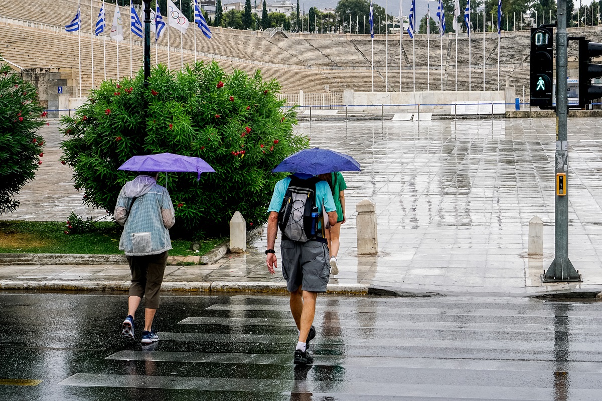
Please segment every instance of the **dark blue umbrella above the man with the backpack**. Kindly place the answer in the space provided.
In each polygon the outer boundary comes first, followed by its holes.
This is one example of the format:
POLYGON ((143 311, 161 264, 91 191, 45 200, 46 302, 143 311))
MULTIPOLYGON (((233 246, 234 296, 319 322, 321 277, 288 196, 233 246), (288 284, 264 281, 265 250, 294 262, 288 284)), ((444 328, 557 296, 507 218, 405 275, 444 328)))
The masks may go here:
POLYGON ((305 173, 311 175, 337 171, 361 171, 359 163, 349 155, 330 149, 305 149, 282 160, 274 173, 305 173))

